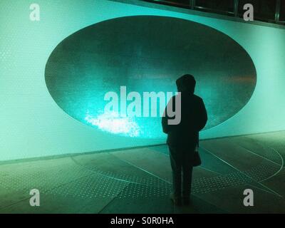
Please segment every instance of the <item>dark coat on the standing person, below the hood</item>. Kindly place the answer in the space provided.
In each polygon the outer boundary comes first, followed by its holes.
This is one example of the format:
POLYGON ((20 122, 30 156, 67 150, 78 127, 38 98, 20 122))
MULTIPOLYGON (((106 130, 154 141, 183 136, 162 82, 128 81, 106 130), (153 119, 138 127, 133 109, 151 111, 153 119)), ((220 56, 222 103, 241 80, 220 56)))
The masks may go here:
MULTIPOLYGON (((175 110, 175 100, 177 95, 173 96, 172 110, 175 110)), ((183 148, 183 150, 194 150, 199 143, 199 131, 207 123, 207 110, 202 98, 197 95, 182 92, 181 93, 181 121, 178 125, 169 125, 165 108, 165 116, 162 117, 162 129, 167 134, 167 144, 171 147, 183 148)), ((173 118, 172 118, 173 119, 173 118)))

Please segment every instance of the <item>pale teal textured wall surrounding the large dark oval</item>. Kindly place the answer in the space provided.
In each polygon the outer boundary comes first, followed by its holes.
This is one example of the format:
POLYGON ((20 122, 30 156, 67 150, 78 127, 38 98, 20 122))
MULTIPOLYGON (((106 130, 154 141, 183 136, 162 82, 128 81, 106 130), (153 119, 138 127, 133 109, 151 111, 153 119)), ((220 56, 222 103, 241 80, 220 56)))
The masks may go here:
MULTIPOLYGON (((285 129, 285 30, 152 9, 113 1, 37 1, 41 21, 29 20, 29 1, 0 3, 0 160, 152 145, 164 138, 127 138, 96 130, 58 107, 45 67, 58 43, 100 21, 123 16, 170 16, 195 21, 237 41, 252 58, 257 86, 242 110, 202 138, 285 129)), ((222 90, 223 88, 221 88, 222 90)))

